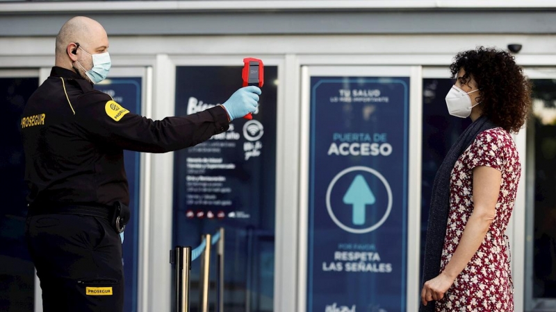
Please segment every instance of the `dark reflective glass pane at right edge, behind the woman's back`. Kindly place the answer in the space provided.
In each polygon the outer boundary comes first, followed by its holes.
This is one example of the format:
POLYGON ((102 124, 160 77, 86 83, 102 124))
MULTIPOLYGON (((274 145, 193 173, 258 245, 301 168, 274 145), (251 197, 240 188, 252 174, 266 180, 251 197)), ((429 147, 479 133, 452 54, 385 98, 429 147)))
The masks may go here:
MULTIPOLYGON (((556 80, 534 79, 527 170, 534 175, 533 297, 556 298, 556 80)), ((531 176, 531 174, 529 174, 531 176)))

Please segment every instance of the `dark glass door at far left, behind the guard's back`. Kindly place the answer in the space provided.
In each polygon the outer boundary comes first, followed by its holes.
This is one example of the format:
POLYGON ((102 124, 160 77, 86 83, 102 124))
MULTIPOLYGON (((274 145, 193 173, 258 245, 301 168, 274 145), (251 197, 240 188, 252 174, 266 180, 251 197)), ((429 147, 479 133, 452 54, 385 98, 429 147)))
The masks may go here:
POLYGON ((38 70, 0 69, 0 311, 33 311, 35 269, 24 241, 27 186, 20 124, 38 76, 38 70))

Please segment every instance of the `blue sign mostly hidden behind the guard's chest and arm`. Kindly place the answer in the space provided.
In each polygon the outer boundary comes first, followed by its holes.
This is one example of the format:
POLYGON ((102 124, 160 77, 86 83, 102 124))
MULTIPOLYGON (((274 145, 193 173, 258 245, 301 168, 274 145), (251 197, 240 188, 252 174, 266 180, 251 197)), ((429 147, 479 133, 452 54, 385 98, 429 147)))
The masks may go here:
MULTIPOLYGON (((141 78, 111 78, 105 80, 95 89, 112 96, 114 101, 133 114, 141 114, 141 78)), ((139 248, 139 187, 140 187, 140 153, 124 151, 124 162, 129 183, 129 208, 131 220, 126 225, 124 244, 122 245, 124 263, 125 298, 124 311, 137 311, 138 248, 139 248)))

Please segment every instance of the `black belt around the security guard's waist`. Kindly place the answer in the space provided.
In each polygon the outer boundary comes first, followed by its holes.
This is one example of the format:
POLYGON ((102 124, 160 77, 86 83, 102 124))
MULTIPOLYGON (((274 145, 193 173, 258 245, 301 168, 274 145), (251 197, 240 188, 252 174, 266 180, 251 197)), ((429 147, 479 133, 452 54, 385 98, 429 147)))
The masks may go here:
POLYGON ((30 205, 28 216, 41 214, 77 214, 80 216, 95 216, 111 220, 114 207, 95 205, 64 205, 62 203, 49 205, 30 205))

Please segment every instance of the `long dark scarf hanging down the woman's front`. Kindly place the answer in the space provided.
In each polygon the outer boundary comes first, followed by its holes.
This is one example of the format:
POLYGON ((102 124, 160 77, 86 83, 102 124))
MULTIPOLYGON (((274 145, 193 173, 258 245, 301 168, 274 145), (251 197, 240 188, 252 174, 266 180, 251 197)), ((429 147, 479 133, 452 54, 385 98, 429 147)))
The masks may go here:
MULTIPOLYGON (((425 281, 434 279, 434 277, 438 276, 440 273, 440 261, 446 236, 446 227, 448 227, 448 214, 450 212, 450 178, 452 169, 459 156, 471 146, 477 135, 484 130, 492 128, 496 128, 496 125, 491 123, 489 119, 486 119, 485 116, 481 116, 475 120, 475 122, 471 123, 471 125, 461 133, 452 148, 450 148, 439 171, 436 172, 434 184, 432 184, 432 198, 430 201, 425 260, 423 261, 423 281, 421 282, 421 286, 425 284, 425 281)), ((427 306, 420 304, 419 311, 434 311, 435 304, 436 302, 434 301, 429 302, 427 306)))

